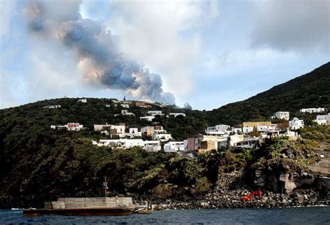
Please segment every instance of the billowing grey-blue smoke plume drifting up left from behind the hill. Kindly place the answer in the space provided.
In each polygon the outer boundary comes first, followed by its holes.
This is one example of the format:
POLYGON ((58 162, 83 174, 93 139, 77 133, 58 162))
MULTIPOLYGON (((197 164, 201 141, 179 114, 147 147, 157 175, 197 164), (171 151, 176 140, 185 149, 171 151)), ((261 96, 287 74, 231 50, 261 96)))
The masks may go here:
POLYGON ((124 90, 133 97, 174 103, 164 92, 162 78, 118 51, 118 36, 93 19, 82 19, 81 1, 30 1, 24 10, 29 28, 41 40, 61 42, 78 58, 84 80, 111 90, 124 90))

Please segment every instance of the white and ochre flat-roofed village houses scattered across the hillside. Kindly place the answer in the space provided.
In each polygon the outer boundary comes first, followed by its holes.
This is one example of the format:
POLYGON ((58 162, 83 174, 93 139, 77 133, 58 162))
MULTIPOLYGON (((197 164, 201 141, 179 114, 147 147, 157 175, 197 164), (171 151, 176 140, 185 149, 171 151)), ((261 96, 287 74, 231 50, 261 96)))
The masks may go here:
MULTIPOLYGON (((143 101, 118 101, 111 99, 113 106, 118 105, 121 108, 120 114, 128 117, 135 117, 134 113, 129 112, 129 107, 134 105, 139 108, 146 109, 146 115, 140 117, 140 120, 152 122, 156 117, 185 117, 184 113, 168 113, 162 110, 148 110, 152 108, 148 103, 143 101)), ((79 99, 79 103, 87 103, 87 99, 79 99)), ((160 107, 167 107, 165 104, 159 104, 160 107)), ((110 107, 110 105, 105 105, 110 107)), ((60 105, 45 106, 44 108, 61 108, 60 105)), ((315 114, 313 120, 316 124, 330 125, 330 113, 327 114, 326 108, 302 108, 300 113, 315 114)), ((104 135, 100 140, 92 140, 92 143, 98 147, 123 148, 142 147, 149 152, 164 151, 168 153, 178 153, 194 158, 200 154, 215 150, 226 149, 258 149, 262 142, 267 138, 287 137, 288 140, 297 140, 299 138, 299 129, 304 128, 304 120, 297 117, 290 119, 289 112, 278 111, 274 113, 270 119, 278 119, 279 123, 270 121, 263 122, 242 122, 240 126, 228 126, 218 124, 205 127, 205 133, 198 133, 183 141, 173 139, 171 133, 155 122, 155 126, 132 127, 124 122, 119 124, 94 124, 94 131, 104 135)), ((81 131, 84 129, 83 124, 77 122, 65 125, 51 125, 52 129, 64 129, 67 131, 81 131)))

